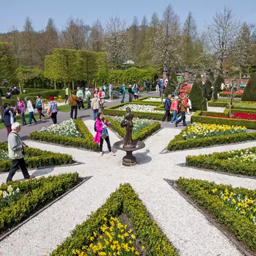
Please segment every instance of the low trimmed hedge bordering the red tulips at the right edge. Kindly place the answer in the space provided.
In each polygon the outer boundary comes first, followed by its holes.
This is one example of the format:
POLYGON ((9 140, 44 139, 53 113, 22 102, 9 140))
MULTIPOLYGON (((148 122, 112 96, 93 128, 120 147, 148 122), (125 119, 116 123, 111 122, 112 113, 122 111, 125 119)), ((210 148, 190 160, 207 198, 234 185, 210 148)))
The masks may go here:
MULTIPOLYGON (((232 110, 232 112, 238 112, 239 110, 232 110)), ((191 116, 191 122, 196 123, 215 123, 215 124, 227 124, 227 125, 238 125, 246 126, 247 129, 256 130, 256 121, 246 120, 246 119, 234 119, 234 118, 222 118, 222 117, 210 117, 203 116, 204 114, 215 113, 214 115, 219 115, 218 112, 206 112, 206 111, 197 111, 191 116)))

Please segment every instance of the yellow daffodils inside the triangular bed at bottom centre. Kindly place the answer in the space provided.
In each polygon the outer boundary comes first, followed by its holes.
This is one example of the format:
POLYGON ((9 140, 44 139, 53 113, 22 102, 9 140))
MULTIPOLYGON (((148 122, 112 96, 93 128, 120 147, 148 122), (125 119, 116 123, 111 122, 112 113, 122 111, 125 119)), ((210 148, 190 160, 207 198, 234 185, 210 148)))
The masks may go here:
MULTIPOLYGON (((83 246, 82 250, 73 250, 74 255, 139 255, 132 229, 128 230, 127 225, 123 225, 117 218, 103 220, 105 224, 100 227, 101 233, 94 231, 94 236, 90 238, 91 244, 83 246)), ((141 250, 144 250, 144 246, 141 246, 141 250)))

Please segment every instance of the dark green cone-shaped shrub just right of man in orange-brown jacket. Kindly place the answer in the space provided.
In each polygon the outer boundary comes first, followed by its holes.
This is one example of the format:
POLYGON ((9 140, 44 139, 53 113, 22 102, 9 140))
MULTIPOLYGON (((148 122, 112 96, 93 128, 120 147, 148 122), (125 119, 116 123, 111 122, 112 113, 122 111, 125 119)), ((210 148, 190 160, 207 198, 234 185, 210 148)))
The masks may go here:
POLYGON ((206 98, 203 93, 202 79, 200 75, 196 76, 196 80, 191 88, 190 96, 192 110, 204 110, 207 111, 206 98), (200 77, 200 78, 198 78, 200 77))

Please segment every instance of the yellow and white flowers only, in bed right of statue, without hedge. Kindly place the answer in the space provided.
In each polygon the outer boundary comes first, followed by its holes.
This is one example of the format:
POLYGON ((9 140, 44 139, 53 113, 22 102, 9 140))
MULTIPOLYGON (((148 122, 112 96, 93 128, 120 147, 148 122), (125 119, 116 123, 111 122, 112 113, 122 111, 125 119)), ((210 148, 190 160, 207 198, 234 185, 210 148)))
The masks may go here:
POLYGON ((242 127, 225 124, 193 123, 183 131, 182 136, 184 139, 197 139, 245 132, 245 126, 242 127))

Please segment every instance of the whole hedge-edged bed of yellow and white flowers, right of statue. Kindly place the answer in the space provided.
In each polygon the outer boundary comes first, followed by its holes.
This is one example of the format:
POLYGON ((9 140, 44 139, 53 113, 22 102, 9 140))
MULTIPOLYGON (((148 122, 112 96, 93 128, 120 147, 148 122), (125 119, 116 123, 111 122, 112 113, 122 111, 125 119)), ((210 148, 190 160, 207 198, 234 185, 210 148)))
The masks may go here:
POLYGON ((236 126, 216 125, 216 124, 206 124, 206 126, 202 126, 203 125, 202 123, 198 123, 196 125, 198 125, 198 127, 201 126, 200 129, 196 129, 198 130, 198 132, 196 132, 197 134, 191 133, 191 125, 187 125, 180 134, 176 135, 174 139, 169 142, 167 146, 167 150, 168 151, 188 150, 188 149, 197 148, 197 147, 206 147, 206 146, 212 146, 212 145, 230 144, 230 143, 237 143, 241 141, 256 140, 256 132, 248 133, 246 132, 245 127, 243 126, 240 126, 239 128, 236 126), (225 129, 224 127, 229 127, 229 128, 225 129), (207 132, 202 133, 202 131, 207 131, 207 130, 208 130, 208 133, 207 132), (225 131, 222 132, 221 130, 225 130, 225 131), (237 132, 234 132, 234 133, 230 132, 232 130, 237 130, 237 132), (207 135, 204 135, 205 133, 207 135))

